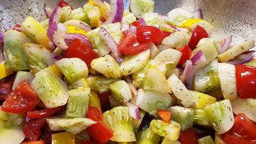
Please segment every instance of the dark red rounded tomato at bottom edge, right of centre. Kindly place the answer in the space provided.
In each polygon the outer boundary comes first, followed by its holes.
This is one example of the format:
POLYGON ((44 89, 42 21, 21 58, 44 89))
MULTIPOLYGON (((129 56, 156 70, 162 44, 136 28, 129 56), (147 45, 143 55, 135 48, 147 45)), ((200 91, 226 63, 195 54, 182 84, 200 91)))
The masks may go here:
POLYGON ((188 128, 187 130, 180 132, 179 141, 181 144, 196 144, 198 143, 198 133, 192 128, 188 128))

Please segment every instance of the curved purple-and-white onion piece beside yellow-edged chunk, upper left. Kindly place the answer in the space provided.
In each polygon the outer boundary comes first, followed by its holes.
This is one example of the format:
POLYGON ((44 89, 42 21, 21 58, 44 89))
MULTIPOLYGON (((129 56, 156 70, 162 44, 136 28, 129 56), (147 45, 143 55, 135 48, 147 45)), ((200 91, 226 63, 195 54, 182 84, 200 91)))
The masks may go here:
POLYGON ((67 44, 64 40, 68 29, 63 23, 52 23, 47 29, 47 37, 58 47, 63 50, 67 49, 67 44))

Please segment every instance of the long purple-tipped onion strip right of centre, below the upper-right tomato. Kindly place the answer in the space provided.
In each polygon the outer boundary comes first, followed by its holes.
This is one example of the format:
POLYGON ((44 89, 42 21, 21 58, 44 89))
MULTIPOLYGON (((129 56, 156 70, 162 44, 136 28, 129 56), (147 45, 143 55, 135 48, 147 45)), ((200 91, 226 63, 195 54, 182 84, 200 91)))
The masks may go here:
POLYGON ((188 90, 193 90, 193 82, 194 82, 194 76, 196 71, 198 71, 199 68, 205 66, 206 64, 206 57, 204 56, 203 52, 199 50, 194 56, 191 58, 192 67, 190 71, 190 75, 188 80, 186 80, 186 87, 188 90))

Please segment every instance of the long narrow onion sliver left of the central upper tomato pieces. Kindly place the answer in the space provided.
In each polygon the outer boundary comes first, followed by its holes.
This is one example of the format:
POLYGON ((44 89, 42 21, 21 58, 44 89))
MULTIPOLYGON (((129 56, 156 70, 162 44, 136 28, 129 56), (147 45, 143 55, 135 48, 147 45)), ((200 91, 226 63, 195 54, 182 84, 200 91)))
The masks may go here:
POLYGON ((107 32, 107 30, 104 27, 101 27, 99 34, 100 37, 104 40, 104 42, 107 44, 107 47, 110 49, 112 56, 120 64, 123 60, 123 56, 117 48, 117 44, 114 38, 110 35, 109 32, 107 32))

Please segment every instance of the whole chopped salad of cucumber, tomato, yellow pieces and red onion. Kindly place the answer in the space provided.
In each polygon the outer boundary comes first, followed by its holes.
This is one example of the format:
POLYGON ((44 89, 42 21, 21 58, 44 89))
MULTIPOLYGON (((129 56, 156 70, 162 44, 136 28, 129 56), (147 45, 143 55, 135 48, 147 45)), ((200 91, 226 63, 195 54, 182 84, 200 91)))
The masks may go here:
POLYGON ((150 0, 44 11, 0 33, 0 143, 256 143, 253 39, 150 0))

